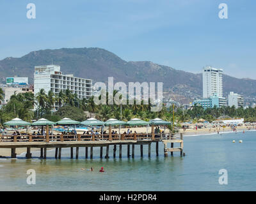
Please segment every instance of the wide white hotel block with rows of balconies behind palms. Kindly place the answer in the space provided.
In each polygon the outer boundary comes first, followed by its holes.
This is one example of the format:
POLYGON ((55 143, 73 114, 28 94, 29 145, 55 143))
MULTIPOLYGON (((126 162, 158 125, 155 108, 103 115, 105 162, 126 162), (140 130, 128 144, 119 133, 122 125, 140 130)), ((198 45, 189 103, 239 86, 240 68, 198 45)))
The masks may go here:
MULTIPOLYGON (((35 66, 34 89, 35 95, 40 89, 44 89, 45 92, 52 91, 54 94, 69 89, 72 94, 77 94, 79 99, 88 99, 92 96, 92 80, 64 75, 58 65, 35 66)), ((55 109, 58 108, 56 103, 55 109)))

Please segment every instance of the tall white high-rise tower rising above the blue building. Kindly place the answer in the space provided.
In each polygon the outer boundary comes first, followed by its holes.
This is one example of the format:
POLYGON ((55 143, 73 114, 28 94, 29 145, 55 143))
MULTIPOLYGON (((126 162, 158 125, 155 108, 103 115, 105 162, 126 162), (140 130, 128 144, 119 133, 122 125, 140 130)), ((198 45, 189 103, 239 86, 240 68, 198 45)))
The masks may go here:
POLYGON ((203 69, 203 98, 222 97, 223 69, 206 66, 203 69))

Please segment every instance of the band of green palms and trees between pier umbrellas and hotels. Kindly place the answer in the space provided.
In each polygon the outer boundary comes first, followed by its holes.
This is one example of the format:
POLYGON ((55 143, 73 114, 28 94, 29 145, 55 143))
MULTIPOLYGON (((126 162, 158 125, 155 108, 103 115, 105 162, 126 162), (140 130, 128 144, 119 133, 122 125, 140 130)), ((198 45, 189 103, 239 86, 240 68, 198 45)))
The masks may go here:
MULTIPOLYGON (((113 96, 117 91, 113 92, 113 96)), ((0 89, 0 97, 3 96, 3 90, 0 89)), ((99 97, 99 99, 101 96, 99 97)), ((107 93, 108 98, 108 93, 107 93)), ((3 101, 3 97, 0 98, 3 101)), ((44 117, 45 119, 52 120, 54 122, 68 117, 73 120, 86 120, 86 117, 96 117, 99 120, 108 120, 115 118, 118 120, 131 120, 134 117, 142 120, 150 120, 159 117, 163 120, 173 122, 173 111, 175 127, 180 126, 181 122, 200 122, 200 119, 212 122, 221 115, 229 115, 232 118, 243 117, 246 122, 256 122, 256 108, 235 108, 232 107, 221 107, 221 108, 207 108, 204 110, 202 106, 193 106, 190 110, 183 110, 182 107, 166 108, 163 106, 161 112, 151 112, 150 107, 152 106, 150 101, 148 105, 122 105, 122 115, 120 105, 96 105, 93 98, 90 99, 79 99, 76 94, 72 94, 70 90, 60 92, 55 95, 49 91, 46 93, 44 89, 41 89, 38 94, 34 97, 31 92, 14 94, 7 105, 4 105, 0 109, 0 121, 1 124, 15 117, 19 117, 22 120, 36 120, 44 117), (61 108, 57 112, 52 112, 54 103, 61 105, 61 108), (36 105, 36 110, 34 110, 36 105), (87 113, 88 114, 87 114, 87 113)), ((170 126, 173 129, 173 126, 170 126)))

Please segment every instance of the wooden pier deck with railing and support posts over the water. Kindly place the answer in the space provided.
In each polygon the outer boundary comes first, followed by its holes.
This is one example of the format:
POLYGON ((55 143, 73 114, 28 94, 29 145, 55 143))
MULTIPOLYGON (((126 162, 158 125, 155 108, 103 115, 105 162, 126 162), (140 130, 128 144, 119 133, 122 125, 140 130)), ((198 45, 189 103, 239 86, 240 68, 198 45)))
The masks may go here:
MULTIPOLYGON (((0 148, 10 149, 11 157, 16 158, 16 149, 26 148, 26 158, 32 157, 31 148, 40 149, 40 158, 47 159, 47 149, 55 149, 55 158, 61 159, 61 149, 70 148, 70 158, 79 158, 79 149, 85 149, 85 159, 88 159, 88 149, 90 147, 90 159, 93 159, 93 147, 100 147, 100 158, 109 158, 109 147, 113 147, 113 157, 116 157, 116 150, 119 150, 119 158, 122 158, 122 146, 127 145, 127 157, 134 158, 135 145, 140 145, 140 156, 143 157, 143 146, 148 146, 148 157, 151 156, 151 145, 156 145, 156 156, 159 156, 159 142, 164 143, 164 156, 168 152, 180 152, 183 156, 183 136, 180 138, 174 135, 154 135, 153 134, 136 134, 132 135, 0 135, 0 148), (180 143, 179 147, 173 147, 174 143, 180 143), (168 144, 171 146, 168 147, 168 144), (105 147, 105 148, 104 148, 105 147), (76 148, 76 152, 74 152, 76 148), (106 154, 103 156, 103 150, 106 154)), ((123 152, 124 153, 124 152, 123 152)))

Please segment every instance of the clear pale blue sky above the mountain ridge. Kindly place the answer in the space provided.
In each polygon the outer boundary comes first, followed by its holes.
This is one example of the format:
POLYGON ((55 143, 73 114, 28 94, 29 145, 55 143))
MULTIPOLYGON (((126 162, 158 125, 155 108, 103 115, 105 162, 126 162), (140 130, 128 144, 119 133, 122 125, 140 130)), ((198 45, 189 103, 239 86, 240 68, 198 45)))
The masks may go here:
POLYGON ((256 79, 253 0, 1 0, 0 60, 43 49, 99 47, 125 61, 256 79), (27 4, 36 18, 27 18, 27 4), (225 3, 228 18, 219 17, 225 3))

